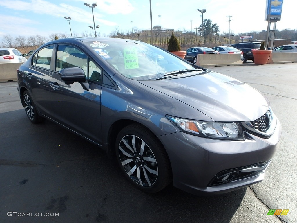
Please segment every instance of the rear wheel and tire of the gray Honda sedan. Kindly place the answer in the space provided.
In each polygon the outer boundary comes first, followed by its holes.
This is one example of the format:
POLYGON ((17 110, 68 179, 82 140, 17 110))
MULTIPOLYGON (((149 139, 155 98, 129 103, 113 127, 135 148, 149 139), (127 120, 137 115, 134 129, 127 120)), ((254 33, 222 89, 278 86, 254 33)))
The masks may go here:
POLYGON ((23 102, 27 117, 29 118, 31 123, 40 123, 44 120, 44 118, 38 114, 32 97, 28 91, 24 91, 23 93, 23 102))

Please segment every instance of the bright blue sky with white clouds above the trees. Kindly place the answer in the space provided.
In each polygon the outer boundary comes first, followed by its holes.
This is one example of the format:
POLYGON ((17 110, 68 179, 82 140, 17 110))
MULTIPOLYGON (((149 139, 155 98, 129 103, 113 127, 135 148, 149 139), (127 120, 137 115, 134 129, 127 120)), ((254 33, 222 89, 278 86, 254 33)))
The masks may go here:
MULTIPOLYGON (((3 35, 12 37, 40 34, 49 37, 53 33, 68 33, 69 23, 64 16, 70 16, 72 34, 94 32, 92 10, 84 5, 89 0, 0 0, 0 42, 3 35)), ((93 0, 96 1, 96 0, 93 0)), ((282 1, 282 0, 274 0, 282 1)), ((264 21, 266 0, 151 0, 153 26, 195 31, 201 23, 201 13, 206 9, 204 19, 217 23, 220 32, 228 32, 228 15, 231 15, 230 31, 234 34, 267 29, 264 21), (160 17, 158 17, 160 15, 160 17), (192 21, 192 23, 191 23, 192 21)), ((281 21, 277 29, 297 29, 296 1, 284 0, 281 21)), ((119 28, 123 32, 137 28, 150 29, 149 0, 97 0, 94 8, 95 25, 100 35, 109 35, 119 28), (131 22, 132 21, 132 22, 131 22)))

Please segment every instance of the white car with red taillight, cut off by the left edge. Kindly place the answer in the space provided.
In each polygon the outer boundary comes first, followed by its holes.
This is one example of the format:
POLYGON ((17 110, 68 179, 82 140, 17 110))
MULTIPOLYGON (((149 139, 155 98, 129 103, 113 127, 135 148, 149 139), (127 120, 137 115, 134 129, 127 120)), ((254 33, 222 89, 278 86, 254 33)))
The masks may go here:
POLYGON ((23 63, 27 59, 14 48, 0 48, 0 63, 23 63))

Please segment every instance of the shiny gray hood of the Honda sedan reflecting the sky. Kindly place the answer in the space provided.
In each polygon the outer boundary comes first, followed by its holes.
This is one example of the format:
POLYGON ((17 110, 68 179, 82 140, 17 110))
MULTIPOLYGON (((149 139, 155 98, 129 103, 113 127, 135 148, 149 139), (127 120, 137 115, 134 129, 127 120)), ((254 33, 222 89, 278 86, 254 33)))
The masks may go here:
MULTIPOLYGON (((253 87, 213 71, 139 82, 203 112, 214 121, 253 121, 269 108, 268 99, 253 87)), ((195 119, 195 114, 183 118, 195 119)))

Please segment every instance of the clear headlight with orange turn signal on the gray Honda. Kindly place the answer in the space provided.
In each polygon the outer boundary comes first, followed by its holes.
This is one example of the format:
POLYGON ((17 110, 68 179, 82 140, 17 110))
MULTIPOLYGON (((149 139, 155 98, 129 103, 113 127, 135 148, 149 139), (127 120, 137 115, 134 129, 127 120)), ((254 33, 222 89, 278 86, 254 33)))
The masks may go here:
POLYGON ((244 140, 241 126, 235 122, 208 122, 166 115, 181 131, 212 139, 244 140))

